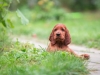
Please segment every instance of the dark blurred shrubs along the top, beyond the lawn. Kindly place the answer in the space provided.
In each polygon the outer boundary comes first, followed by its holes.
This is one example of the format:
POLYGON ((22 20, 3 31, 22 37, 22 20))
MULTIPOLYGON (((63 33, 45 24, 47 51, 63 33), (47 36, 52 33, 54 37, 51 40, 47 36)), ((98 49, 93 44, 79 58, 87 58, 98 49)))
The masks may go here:
POLYGON ((29 9, 50 11, 52 8, 65 8, 69 11, 95 11, 100 9, 99 0, 13 0, 10 10, 28 7, 29 9))

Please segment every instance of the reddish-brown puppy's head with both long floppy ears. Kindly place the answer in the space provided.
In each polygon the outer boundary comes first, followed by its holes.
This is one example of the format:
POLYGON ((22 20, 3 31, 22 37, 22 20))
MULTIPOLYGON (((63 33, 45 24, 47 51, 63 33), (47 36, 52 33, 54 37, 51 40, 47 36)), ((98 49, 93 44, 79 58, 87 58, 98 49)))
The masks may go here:
POLYGON ((64 24, 57 24, 53 28, 49 40, 52 45, 56 44, 56 42, 68 45, 71 42, 69 31, 64 24))

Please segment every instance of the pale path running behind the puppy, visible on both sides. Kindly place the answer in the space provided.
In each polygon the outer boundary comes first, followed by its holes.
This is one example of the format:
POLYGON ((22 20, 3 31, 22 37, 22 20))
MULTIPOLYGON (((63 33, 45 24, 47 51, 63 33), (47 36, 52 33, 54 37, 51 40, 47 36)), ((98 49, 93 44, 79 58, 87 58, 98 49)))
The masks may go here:
MULTIPOLYGON (((22 43, 31 43, 34 44, 37 48, 47 48, 47 42, 38 41, 37 39, 33 38, 25 38, 25 37, 16 37, 13 40, 16 41, 18 39, 22 43)), ((90 70, 89 75, 100 75, 100 50, 76 46, 76 45, 69 45, 71 49, 75 50, 76 53, 88 53, 90 55, 90 59, 88 60, 88 69, 90 70)))

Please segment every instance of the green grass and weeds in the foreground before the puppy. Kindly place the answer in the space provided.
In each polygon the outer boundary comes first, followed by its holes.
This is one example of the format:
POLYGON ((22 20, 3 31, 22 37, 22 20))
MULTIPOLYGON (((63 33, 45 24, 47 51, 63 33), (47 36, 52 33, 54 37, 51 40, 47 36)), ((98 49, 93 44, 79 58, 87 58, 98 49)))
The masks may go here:
POLYGON ((87 75, 86 66, 67 52, 49 53, 18 41, 0 55, 0 75, 87 75))

